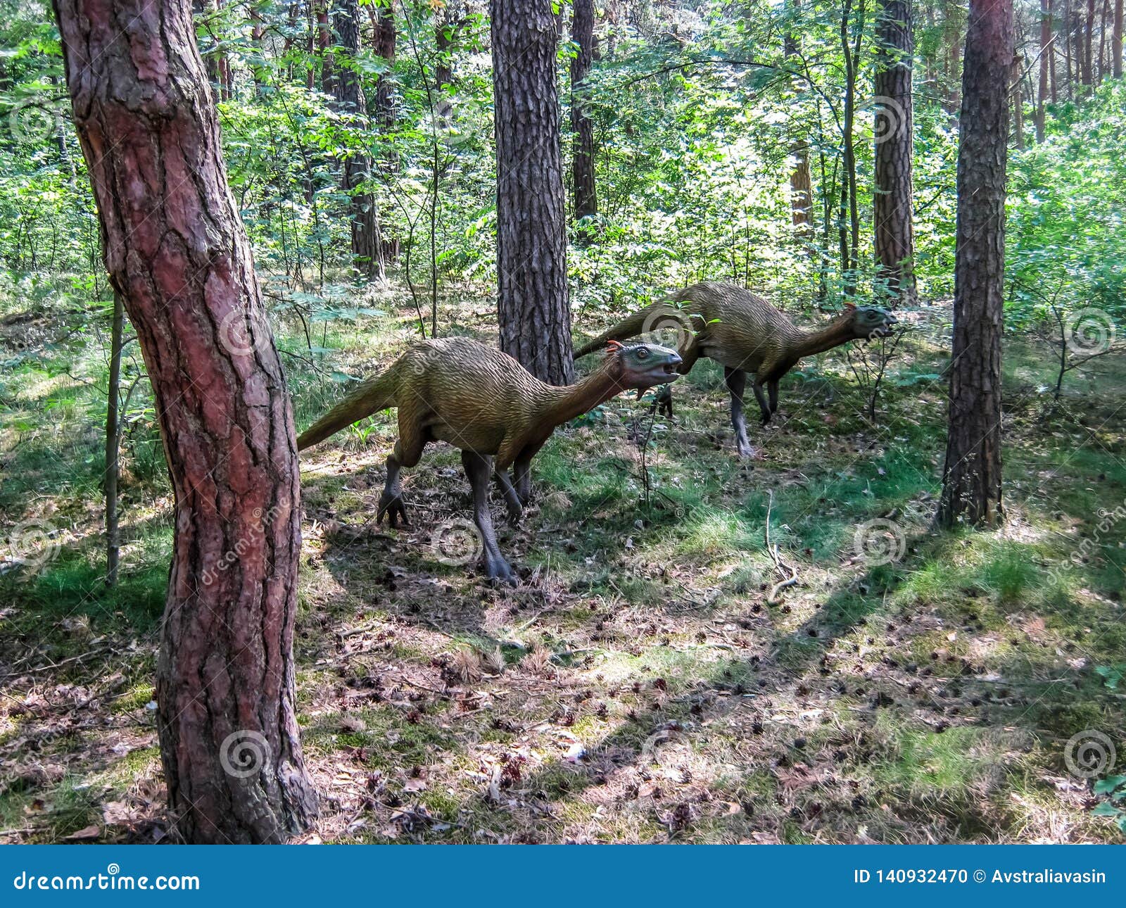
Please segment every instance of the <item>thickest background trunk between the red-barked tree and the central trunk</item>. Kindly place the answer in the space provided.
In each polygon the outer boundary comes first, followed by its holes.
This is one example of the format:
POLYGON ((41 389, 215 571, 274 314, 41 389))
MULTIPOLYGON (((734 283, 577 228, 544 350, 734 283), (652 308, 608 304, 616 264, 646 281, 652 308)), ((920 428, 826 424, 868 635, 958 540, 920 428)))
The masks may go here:
MULTIPOLYGON (((333 25, 346 59, 359 55, 359 5, 357 0, 337 0, 333 25)), ((367 108, 359 73, 341 64, 337 72, 337 99, 341 112, 360 130, 367 127, 367 108)), ((366 277, 382 281, 383 243, 375 196, 364 184, 372 176, 372 159, 364 152, 349 151, 345 160, 342 188, 351 196, 351 248, 356 269, 366 277)))

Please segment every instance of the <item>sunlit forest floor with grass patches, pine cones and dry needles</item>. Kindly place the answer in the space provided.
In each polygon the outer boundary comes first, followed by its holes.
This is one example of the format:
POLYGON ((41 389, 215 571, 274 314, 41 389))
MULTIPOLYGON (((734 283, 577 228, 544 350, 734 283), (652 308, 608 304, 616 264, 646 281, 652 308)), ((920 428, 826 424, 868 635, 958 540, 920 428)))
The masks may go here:
MULTIPOLYGON (((310 342, 279 318, 300 426, 346 388, 328 372, 413 336, 402 294, 363 305, 384 314, 314 323, 310 342)), ((482 296, 440 324, 491 341, 491 315, 482 296)), ((0 550, 0 842, 168 829, 152 678, 171 497, 136 392, 107 589, 106 338, 83 320, 0 309, 0 537, 23 540, 0 550)), ((374 523, 393 413, 307 452, 306 840, 1123 840, 1092 812, 1112 813, 1094 783, 1115 766, 1084 760, 1091 742, 1126 759, 1126 363, 1070 374, 1053 407, 1049 351, 1010 341, 1006 524, 936 534, 949 308, 904 320, 875 418, 849 358, 824 355, 752 428, 759 460, 734 456, 711 363, 674 386, 671 421, 629 395, 557 430, 521 525, 494 507, 515 589, 436 545, 471 516, 453 448, 405 472, 409 529, 374 523), (768 514, 796 570, 775 604, 768 514)))

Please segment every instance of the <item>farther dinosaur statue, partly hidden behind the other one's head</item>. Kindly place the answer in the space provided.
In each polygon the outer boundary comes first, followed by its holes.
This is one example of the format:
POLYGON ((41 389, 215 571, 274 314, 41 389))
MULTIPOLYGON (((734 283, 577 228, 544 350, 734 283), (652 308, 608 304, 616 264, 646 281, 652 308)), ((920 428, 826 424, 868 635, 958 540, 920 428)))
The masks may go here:
MULTIPOLYGON (((806 330, 761 296, 734 284, 692 284, 627 317, 575 350, 574 357, 586 356, 609 341, 663 328, 676 329, 682 359, 677 368, 682 375, 687 375, 701 356, 723 364, 739 455, 750 457, 754 451, 747 440, 747 418, 743 416, 748 374, 754 376, 751 388, 766 425, 778 410, 778 380, 798 359, 850 340, 887 337, 896 321, 893 314, 877 306, 846 304, 844 311, 824 327, 806 330)), ((658 397, 658 406, 672 416, 672 394, 668 386, 658 397)))

